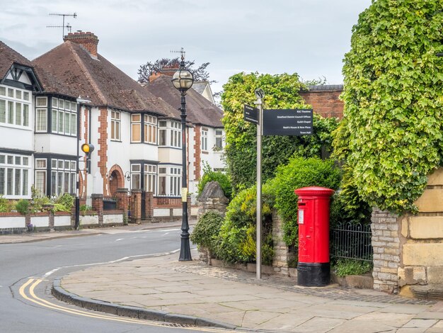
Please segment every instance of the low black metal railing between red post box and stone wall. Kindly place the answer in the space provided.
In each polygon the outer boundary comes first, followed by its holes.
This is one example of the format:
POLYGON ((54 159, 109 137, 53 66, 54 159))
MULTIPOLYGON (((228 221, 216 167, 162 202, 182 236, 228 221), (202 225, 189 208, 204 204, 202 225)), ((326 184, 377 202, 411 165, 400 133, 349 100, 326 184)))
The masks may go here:
POLYGON ((339 224, 330 229, 330 256, 372 261, 371 225, 339 224))

